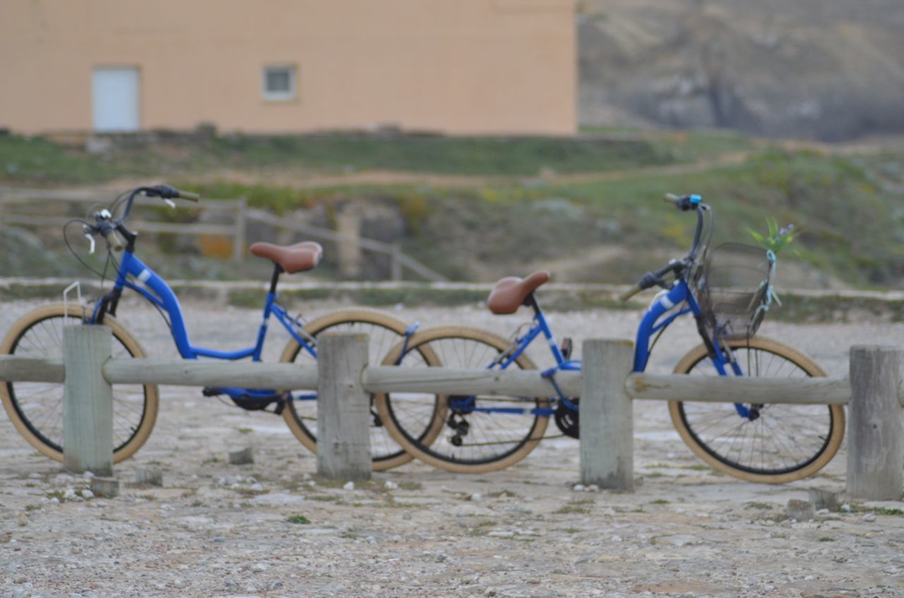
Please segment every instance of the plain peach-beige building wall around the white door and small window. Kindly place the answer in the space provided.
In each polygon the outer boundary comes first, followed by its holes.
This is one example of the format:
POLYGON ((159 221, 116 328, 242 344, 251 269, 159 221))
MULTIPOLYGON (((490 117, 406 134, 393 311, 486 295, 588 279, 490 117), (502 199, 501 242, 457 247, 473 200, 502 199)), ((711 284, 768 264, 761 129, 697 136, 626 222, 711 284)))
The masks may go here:
POLYGON ((572 0, 0 0, 0 126, 87 131, 137 67, 142 129, 575 132, 572 0), (266 101, 266 65, 297 98, 266 101))

